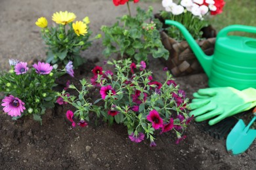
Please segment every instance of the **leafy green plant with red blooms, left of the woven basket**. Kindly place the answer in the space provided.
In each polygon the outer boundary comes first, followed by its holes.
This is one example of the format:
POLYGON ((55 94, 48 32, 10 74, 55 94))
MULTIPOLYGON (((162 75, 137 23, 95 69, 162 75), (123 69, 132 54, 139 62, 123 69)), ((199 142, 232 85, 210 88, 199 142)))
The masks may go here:
MULTIPOLYGON (((127 4, 129 1, 113 1, 114 5, 127 4)), ((134 1, 137 3, 138 1, 134 1)), ((112 26, 102 26, 104 32, 102 44, 106 47, 103 51, 104 56, 109 57, 116 53, 135 61, 148 61, 148 56, 152 54, 154 58, 169 57, 169 52, 164 48, 160 40, 160 33, 156 29, 156 24, 149 20, 154 18, 152 7, 147 11, 137 8, 135 17, 124 15, 117 18, 116 24, 112 26), (146 22, 148 20, 148 22, 146 22), (119 25, 119 23, 121 23, 119 25)))

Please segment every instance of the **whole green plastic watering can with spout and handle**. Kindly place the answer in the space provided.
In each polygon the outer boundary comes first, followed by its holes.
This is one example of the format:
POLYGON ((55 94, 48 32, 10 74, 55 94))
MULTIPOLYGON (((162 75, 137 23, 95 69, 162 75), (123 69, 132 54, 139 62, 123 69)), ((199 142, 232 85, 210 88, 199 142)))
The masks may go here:
POLYGON ((181 30, 209 78, 209 87, 256 88, 256 39, 228 35, 232 31, 256 33, 256 27, 224 27, 217 34, 214 54, 207 56, 184 25, 173 20, 165 20, 165 24, 175 25, 181 30))

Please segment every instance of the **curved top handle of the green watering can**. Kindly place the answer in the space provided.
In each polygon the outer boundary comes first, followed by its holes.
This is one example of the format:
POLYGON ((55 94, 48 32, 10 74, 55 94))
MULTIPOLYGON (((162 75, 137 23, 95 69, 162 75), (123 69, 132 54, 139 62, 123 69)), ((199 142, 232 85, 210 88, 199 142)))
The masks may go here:
POLYGON ((232 31, 243 31, 247 33, 256 33, 256 27, 247 25, 229 25, 219 31, 217 37, 226 37, 229 32, 232 31))

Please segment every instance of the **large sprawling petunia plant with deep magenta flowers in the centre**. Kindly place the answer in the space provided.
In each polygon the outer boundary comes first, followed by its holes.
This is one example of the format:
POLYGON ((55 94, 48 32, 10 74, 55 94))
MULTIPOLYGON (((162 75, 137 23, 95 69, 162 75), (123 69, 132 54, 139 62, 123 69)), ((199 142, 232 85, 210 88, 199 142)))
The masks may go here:
MULTIPOLYGON (((89 120, 92 111, 110 124, 127 126, 129 139, 135 143, 149 139, 150 146, 156 146, 158 132, 175 131, 177 143, 186 137, 182 133, 192 119, 186 113, 188 98, 179 90, 169 71, 166 71, 167 79, 161 83, 147 71, 144 61, 135 64, 131 59, 124 59, 107 63, 114 66, 114 73, 96 66, 91 84, 81 80, 82 90, 77 90, 78 97, 67 95, 65 91, 59 95, 77 109, 75 114, 70 110, 66 113, 73 126, 74 117, 79 119, 79 124, 87 124, 85 120, 89 120), (83 98, 86 87, 91 86, 99 89, 99 98, 94 103, 83 98)), ((70 85, 69 88, 75 87, 70 85)))

